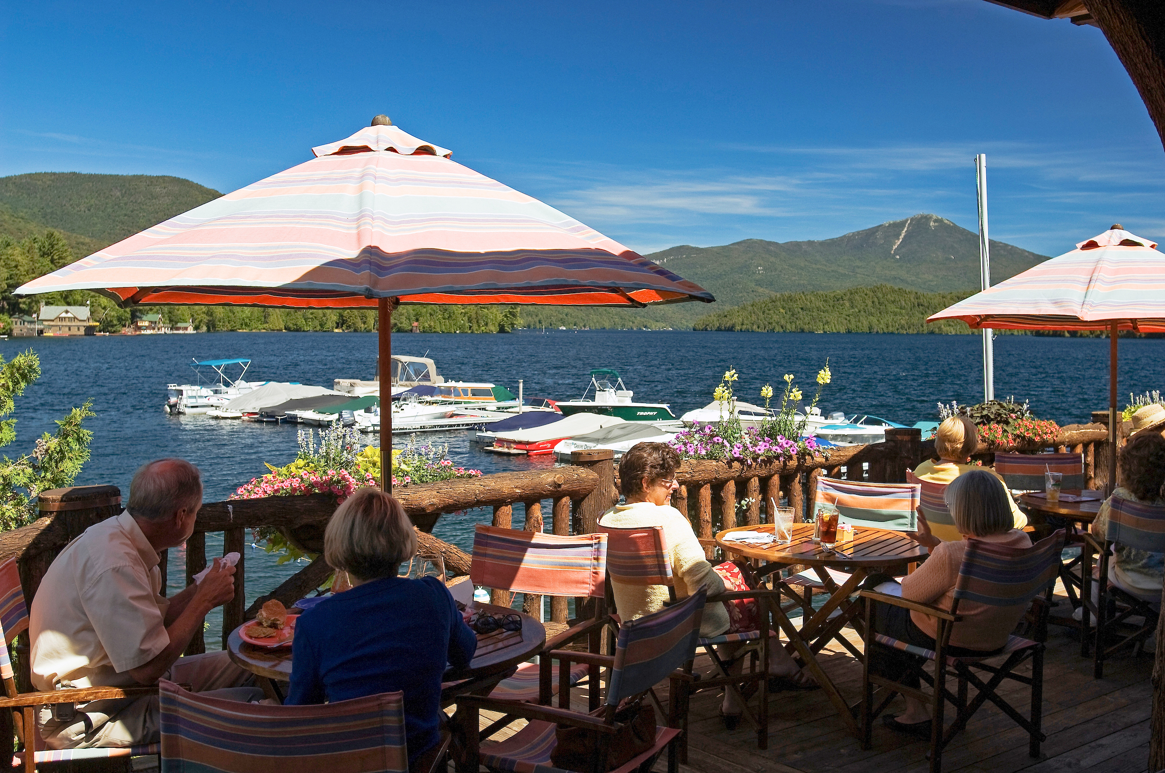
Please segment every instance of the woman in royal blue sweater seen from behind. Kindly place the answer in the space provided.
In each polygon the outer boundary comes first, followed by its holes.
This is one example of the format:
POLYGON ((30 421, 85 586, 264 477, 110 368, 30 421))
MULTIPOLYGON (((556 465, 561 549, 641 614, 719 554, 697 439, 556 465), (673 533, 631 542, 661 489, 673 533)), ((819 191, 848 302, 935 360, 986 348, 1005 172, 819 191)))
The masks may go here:
POLYGON ((324 531, 324 560, 352 588, 299 616, 287 704, 404 693, 409 761, 440 738, 440 685, 446 662, 463 668, 478 647, 457 602, 437 577, 398 577, 417 552, 401 503, 380 489, 348 497, 324 531))

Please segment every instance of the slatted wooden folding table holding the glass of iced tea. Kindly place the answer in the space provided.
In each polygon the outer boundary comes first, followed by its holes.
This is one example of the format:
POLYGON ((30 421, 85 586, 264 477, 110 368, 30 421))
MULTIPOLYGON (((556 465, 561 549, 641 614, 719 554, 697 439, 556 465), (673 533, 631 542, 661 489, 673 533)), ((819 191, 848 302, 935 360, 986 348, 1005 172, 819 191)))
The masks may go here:
MULTIPOLYGON (((856 593, 857 586, 867 576, 875 572, 884 572, 896 566, 918 561, 926 555, 926 548, 902 532, 855 526, 854 540, 838 542, 835 546, 836 549, 853 556, 846 558, 840 553, 827 552, 813 542, 813 524, 795 524, 792 541, 786 545, 777 542, 747 545, 726 539, 734 531, 758 531, 771 534, 774 533, 771 524, 727 529, 716 534, 716 545, 726 553, 767 562, 768 566, 762 567, 758 572, 762 576, 778 573, 786 565, 809 565, 820 577, 821 584, 829 591, 828 601, 807 620, 803 618, 799 630, 779 607, 772 609, 772 615, 781 630, 789 637, 789 646, 802 657, 806 668, 813 674, 829 701, 833 702, 842 721, 856 735, 859 732, 857 721, 836 686, 818 664, 817 653, 834 637, 841 639, 840 631, 847 623, 853 624, 859 633, 862 632, 861 604, 857 601, 849 603, 849 596, 856 593), (850 573, 849 579, 838 584, 833 576, 826 572, 828 568, 848 572, 850 573), (842 604, 845 604, 845 609, 842 609, 842 604), (836 609, 841 609, 841 614, 829 619, 829 615, 836 609)), ((784 580, 779 580, 779 574, 775 577, 776 586, 779 586, 781 591, 785 595, 792 598, 798 597, 796 590, 784 580)), ((854 652, 848 646, 848 641, 845 644, 850 652, 854 652)), ((859 659, 862 657, 856 652, 854 654, 859 659)))

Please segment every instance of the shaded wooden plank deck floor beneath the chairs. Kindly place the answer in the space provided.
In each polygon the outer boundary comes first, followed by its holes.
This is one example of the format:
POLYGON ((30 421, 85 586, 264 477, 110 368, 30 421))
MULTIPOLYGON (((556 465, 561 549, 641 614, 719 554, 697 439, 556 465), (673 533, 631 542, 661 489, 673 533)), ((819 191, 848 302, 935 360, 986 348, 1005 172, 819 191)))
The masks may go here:
MULTIPOLYGON (((1062 600, 1061 609, 1066 605, 1062 600)), ((850 640, 860 641, 847 630, 850 640)), ((1090 771, 1138 773, 1146 770, 1151 711, 1152 653, 1134 658, 1127 651, 1094 680, 1092 661, 1080 657, 1074 629, 1051 626, 1044 666, 1043 756, 1028 756, 1028 736, 988 703, 947 746, 942 770, 967 773, 1090 771)), ((860 697, 861 667, 840 645, 822 654, 822 664, 852 703, 860 697)), ((698 667, 700 664, 697 664, 698 667)), ((1028 715, 1026 688, 1001 688, 1028 715)), ((972 695, 974 690, 972 689, 972 695)), ((585 710, 585 696, 576 701, 585 710)), ((664 698, 666 700, 666 698, 664 698)), ((756 698, 753 698, 755 705, 756 698)), ((769 749, 756 747, 756 735, 742 722, 727 732, 718 716, 719 694, 691 700, 689 764, 684 773, 885 773, 927 771, 929 744, 876 724, 874 744, 863 750, 818 690, 781 693, 769 704, 769 749)), ((901 710, 901 698, 888 712, 901 710)), ((953 717, 948 705, 947 722, 953 717)), ((485 718, 483 718, 485 723, 485 718)), ((518 725, 514 725, 516 730, 518 725)), ((666 759, 655 767, 666 771, 666 759)))

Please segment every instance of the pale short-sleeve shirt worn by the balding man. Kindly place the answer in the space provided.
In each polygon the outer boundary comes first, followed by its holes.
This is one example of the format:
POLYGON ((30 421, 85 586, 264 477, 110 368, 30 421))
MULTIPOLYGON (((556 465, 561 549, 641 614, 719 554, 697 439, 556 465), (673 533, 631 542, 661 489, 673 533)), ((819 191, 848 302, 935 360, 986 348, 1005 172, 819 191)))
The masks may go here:
POLYGON ((29 617, 33 685, 119 687, 170 644, 158 554, 122 512, 85 530, 52 561, 29 617))

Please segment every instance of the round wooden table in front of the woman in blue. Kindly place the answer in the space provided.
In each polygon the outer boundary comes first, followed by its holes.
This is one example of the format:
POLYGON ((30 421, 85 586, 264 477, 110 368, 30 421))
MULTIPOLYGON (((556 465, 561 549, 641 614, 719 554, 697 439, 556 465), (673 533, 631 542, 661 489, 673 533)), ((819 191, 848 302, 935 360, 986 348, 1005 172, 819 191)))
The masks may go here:
MULTIPOLYGON (((521 615, 521 638, 513 644, 482 655, 474 655, 467 668, 450 668, 442 681, 442 705, 449 705, 458 695, 473 693, 488 686, 490 689, 508 676, 518 666, 538 654, 546 644, 546 629, 529 615, 514 609, 494 607, 493 604, 473 604, 474 608, 490 615, 521 615)), ((285 682, 291 679, 291 647, 268 650, 247 644, 239 636, 239 629, 231 631, 227 638, 227 653, 232 661, 250 673, 270 682, 285 682)), ((271 685, 273 692, 282 700, 278 688, 271 685)))

